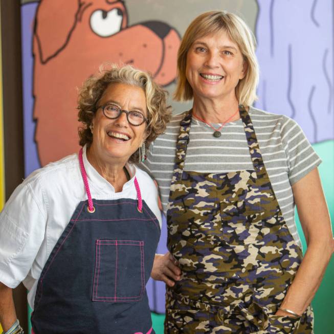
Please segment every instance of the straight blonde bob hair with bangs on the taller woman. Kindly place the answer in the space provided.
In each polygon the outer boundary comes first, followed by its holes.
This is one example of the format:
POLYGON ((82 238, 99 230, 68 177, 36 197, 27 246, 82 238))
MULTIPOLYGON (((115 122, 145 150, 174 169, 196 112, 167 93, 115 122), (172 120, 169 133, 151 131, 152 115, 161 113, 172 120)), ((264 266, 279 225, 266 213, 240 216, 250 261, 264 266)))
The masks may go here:
POLYGON ((198 38, 221 31, 225 31, 229 38, 237 44, 244 61, 247 63, 246 76, 239 81, 235 88, 239 104, 250 106, 257 99, 256 87, 259 81, 259 68, 255 55, 255 37, 239 16, 215 10, 197 16, 182 38, 177 54, 177 86, 174 93, 176 101, 188 101, 193 98, 192 88, 186 78, 187 54, 193 42, 198 38))

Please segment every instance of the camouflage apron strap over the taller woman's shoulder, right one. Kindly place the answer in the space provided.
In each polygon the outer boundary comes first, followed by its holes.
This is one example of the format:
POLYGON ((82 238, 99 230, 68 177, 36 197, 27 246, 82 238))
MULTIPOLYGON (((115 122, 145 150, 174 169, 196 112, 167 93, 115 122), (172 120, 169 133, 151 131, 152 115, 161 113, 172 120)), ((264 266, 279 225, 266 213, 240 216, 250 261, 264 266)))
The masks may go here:
POLYGON ((256 171, 256 174, 258 176, 266 174, 260 147, 257 142, 256 133, 254 131, 251 117, 242 105, 239 106, 239 112, 243 123, 244 133, 246 134, 248 148, 251 154, 254 170, 256 171))

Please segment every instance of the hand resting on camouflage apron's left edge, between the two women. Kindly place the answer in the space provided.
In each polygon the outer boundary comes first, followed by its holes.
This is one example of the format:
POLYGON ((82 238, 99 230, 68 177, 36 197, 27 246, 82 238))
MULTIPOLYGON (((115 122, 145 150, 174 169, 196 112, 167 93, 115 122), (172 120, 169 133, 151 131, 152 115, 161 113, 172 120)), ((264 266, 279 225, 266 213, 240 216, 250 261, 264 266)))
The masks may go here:
POLYGON ((173 286, 174 281, 181 279, 179 262, 169 252, 165 255, 155 254, 151 277, 156 281, 165 282, 168 286, 173 286))

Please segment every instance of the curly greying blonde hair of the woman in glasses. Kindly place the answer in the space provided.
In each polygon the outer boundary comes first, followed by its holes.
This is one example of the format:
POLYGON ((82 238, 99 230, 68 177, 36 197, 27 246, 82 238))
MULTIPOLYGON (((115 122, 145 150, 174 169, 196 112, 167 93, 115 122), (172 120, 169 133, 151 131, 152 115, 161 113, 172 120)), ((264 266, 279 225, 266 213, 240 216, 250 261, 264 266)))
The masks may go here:
MULTIPOLYGON (((171 110, 166 105, 167 93, 153 81, 148 73, 130 65, 118 66, 116 64, 111 64, 108 70, 101 67, 99 74, 88 78, 79 90, 78 117, 79 121, 85 125, 79 128, 79 144, 87 145, 87 147, 92 144, 93 135, 90 126, 104 91, 112 83, 138 86, 145 92, 148 118, 145 144, 148 147, 155 138, 165 132, 170 120, 171 110)), ((129 162, 138 162, 138 150, 131 155, 129 162)))

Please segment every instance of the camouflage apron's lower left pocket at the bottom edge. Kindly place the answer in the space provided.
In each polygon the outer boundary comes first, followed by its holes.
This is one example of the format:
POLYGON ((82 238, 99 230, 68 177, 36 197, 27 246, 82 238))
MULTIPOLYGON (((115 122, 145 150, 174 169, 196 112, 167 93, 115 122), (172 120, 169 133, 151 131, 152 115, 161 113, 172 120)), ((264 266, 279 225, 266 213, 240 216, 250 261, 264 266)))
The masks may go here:
POLYGON ((166 334, 209 333, 209 312, 200 309, 166 310, 166 334))

